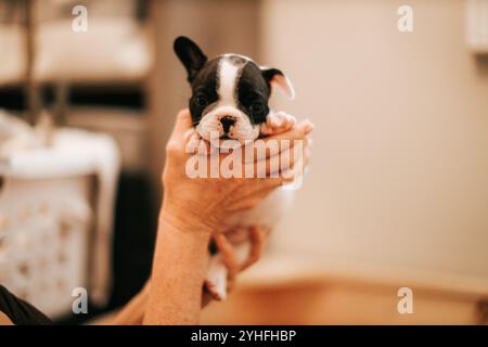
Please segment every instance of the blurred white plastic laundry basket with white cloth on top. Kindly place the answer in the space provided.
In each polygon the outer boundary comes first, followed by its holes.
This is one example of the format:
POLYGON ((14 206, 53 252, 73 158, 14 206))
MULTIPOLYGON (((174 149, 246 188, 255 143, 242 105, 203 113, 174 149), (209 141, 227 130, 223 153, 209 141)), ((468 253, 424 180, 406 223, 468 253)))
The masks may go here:
POLYGON ((0 283, 51 318, 84 287, 104 306, 119 154, 107 136, 57 130, 0 163, 0 283))

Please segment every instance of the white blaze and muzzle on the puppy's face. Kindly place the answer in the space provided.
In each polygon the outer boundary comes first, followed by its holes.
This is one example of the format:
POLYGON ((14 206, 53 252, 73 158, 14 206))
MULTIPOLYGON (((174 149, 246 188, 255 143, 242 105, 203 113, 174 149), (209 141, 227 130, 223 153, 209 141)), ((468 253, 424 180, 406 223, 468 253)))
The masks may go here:
MULTIPOLYGON (((241 56, 243 57, 243 56, 241 56)), ((219 137, 226 136, 220 119, 222 117, 232 117, 235 124, 230 127, 227 136, 234 140, 255 140, 259 137, 260 125, 253 125, 249 116, 239 110, 237 83, 241 78, 241 72, 246 65, 248 59, 243 57, 244 63, 240 64, 233 61, 230 55, 224 55, 218 66, 218 90, 219 97, 216 104, 209 107, 207 113, 200 120, 196 131, 205 140, 210 140, 211 132, 218 132, 219 137)))

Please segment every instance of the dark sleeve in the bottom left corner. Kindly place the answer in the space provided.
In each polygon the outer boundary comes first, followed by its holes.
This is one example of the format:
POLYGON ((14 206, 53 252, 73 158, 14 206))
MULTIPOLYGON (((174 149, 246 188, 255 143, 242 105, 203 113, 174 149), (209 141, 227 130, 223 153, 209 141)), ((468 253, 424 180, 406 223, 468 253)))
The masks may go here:
POLYGON ((48 325, 52 321, 33 305, 17 298, 0 285, 0 311, 16 325, 48 325))

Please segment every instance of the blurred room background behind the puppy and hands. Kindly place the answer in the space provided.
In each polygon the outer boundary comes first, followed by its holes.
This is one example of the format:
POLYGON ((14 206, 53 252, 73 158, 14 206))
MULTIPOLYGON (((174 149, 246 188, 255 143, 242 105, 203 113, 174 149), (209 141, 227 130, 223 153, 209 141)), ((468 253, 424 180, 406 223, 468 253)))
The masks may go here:
POLYGON ((0 283, 60 323, 142 286, 180 35, 282 69, 273 105, 316 124, 293 214, 203 323, 487 322, 487 0, 1 0, 0 283))

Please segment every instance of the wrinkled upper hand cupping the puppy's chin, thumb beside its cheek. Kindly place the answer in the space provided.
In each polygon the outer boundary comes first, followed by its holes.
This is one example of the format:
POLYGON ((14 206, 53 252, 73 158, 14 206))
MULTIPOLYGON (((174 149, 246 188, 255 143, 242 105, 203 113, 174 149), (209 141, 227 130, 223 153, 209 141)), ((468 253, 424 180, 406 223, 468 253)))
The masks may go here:
MULTIPOLYGON (((271 191, 290 180, 282 175, 283 172, 279 172, 277 178, 269 177, 272 167, 270 158, 281 155, 283 151, 290 151, 294 145, 293 140, 303 140, 304 150, 301 157, 290 158, 290 167, 293 168, 295 163, 304 166, 308 163, 307 136, 313 126, 310 121, 305 120, 284 133, 265 139, 264 141, 291 141, 286 146, 280 146, 275 151, 266 151, 265 154, 255 150, 254 160, 249 163, 243 155, 243 170, 249 165, 254 170, 258 165, 265 165, 267 178, 190 178, 185 172, 185 166, 192 155, 187 153, 188 132, 191 129, 192 121, 189 111, 181 111, 166 147, 166 165, 163 174, 164 205, 160 218, 190 232, 205 230, 213 233, 223 231, 224 220, 228 216, 253 208, 271 191)), ((227 154, 219 154, 220 163, 226 156, 227 154)), ((209 163, 209 156, 206 159, 209 163)), ((208 164, 207 167, 210 165, 208 164)))

